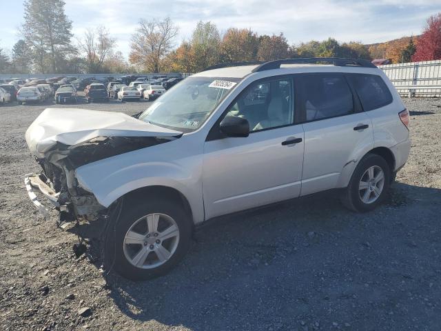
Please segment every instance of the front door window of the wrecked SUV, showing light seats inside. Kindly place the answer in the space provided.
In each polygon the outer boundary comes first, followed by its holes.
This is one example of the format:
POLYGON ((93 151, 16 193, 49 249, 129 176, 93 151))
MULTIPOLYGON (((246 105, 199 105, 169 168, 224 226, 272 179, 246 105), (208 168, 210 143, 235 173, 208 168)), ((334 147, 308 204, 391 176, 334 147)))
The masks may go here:
POLYGON ((247 87, 226 116, 243 117, 250 132, 294 123, 291 79, 258 81, 247 87))

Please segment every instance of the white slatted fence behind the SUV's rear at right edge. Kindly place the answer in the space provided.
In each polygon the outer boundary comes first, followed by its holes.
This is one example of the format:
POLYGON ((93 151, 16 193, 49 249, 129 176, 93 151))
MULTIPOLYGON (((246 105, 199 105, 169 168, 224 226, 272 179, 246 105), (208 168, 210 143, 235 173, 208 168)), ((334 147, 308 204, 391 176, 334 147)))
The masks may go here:
POLYGON ((441 97, 441 60, 380 66, 398 92, 408 97, 441 97))

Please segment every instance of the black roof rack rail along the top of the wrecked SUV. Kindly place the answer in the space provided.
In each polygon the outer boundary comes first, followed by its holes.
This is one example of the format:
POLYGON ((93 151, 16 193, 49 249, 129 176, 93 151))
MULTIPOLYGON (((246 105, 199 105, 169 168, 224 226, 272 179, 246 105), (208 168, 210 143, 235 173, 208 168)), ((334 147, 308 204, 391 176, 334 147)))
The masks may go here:
POLYGON ((344 59, 340 57, 304 57, 298 59, 284 59, 269 61, 261 64, 257 68, 254 68, 253 72, 260 72, 271 69, 278 69, 283 64, 296 64, 296 63, 318 63, 327 62, 334 64, 334 66, 345 67, 345 66, 359 66, 363 68, 377 68, 373 63, 365 59, 344 59))

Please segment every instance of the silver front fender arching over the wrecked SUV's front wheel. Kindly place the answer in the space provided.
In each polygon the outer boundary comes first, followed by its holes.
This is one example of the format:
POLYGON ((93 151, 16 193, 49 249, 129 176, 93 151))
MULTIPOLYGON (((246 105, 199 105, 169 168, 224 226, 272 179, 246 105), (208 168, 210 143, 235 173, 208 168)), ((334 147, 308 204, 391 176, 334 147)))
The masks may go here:
POLYGON ((152 157, 146 150, 150 148, 83 165, 75 171, 76 180, 81 188, 92 192, 106 208, 119 197, 139 188, 153 185, 174 188, 187 199, 194 222, 203 221, 201 159, 180 159, 176 153, 173 163, 165 160, 145 161, 152 157))

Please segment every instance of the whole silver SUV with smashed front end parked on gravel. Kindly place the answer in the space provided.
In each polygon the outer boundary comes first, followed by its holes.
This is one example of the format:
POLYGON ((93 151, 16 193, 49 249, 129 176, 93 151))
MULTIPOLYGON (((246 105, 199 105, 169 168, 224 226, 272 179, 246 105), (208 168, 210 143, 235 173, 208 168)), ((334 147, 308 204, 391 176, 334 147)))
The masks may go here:
POLYGON ((26 132, 43 171, 25 177, 62 221, 103 221, 103 260, 124 277, 164 274, 194 225, 338 189, 367 212, 409 156, 409 112, 360 59, 207 68, 133 117, 46 109, 26 132))

